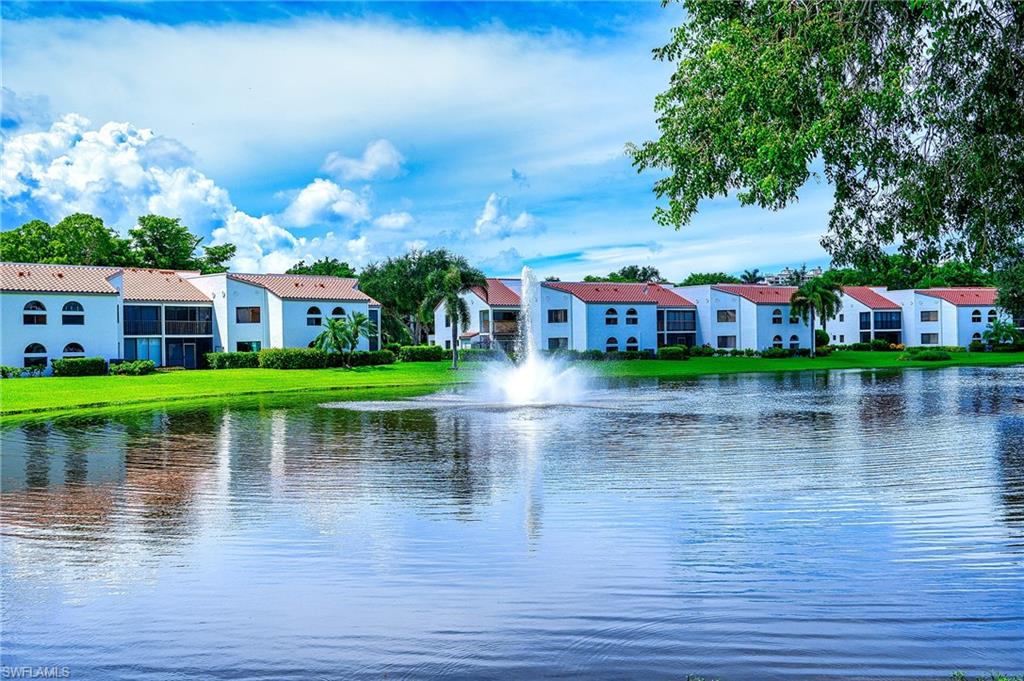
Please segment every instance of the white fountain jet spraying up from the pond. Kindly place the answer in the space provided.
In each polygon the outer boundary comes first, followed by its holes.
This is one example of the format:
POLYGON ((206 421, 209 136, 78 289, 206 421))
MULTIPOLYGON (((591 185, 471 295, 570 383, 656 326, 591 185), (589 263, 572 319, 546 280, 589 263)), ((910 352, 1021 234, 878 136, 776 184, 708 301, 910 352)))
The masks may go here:
POLYGON ((541 352, 541 286, 529 267, 522 268, 521 282, 516 361, 488 368, 484 378, 488 396, 517 406, 575 402, 586 390, 585 377, 541 352))

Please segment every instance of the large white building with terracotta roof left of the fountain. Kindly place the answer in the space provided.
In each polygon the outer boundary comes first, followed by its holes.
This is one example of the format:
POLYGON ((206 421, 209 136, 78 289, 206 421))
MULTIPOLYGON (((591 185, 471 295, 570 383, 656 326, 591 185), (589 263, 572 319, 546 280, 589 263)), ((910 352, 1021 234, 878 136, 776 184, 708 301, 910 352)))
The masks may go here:
MULTIPOLYGON (((356 311, 379 327, 380 305, 334 276, 5 262, 0 364, 100 356, 194 369, 215 350, 308 347, 325 318, 356 311)), ((379 346, 378 335, 359 347, 379 346)))

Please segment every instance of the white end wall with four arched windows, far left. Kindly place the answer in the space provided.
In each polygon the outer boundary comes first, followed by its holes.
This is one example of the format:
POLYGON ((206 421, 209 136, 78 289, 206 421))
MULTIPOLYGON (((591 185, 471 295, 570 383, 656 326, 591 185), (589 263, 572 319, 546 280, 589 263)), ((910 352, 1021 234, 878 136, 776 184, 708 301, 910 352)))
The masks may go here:
MULTIPOLYGON (((113 279, 111 283, 120 286, 113 279)), ((30 343, 46 348, 47 365, 63 356, 68 343, 80 344, 84 356, 117 359, 121 357, 121 296, 116 294, 0 293, 0 364, 22 367, 30 343), (25 304, 32 300, 46 307, 45 325, 25 325, 25 304), (61 323, 61 309, 70 301, 85 309, 84 325, 61 323)))

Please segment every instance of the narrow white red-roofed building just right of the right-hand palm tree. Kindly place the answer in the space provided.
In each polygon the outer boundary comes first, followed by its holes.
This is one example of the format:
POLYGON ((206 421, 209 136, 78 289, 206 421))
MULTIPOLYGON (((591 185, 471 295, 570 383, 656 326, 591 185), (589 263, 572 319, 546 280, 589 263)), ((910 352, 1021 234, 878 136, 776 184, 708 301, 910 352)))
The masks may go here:
POLYGON ((903 343, 903 310, 884 287, 848 286, 840 294, 836 316, 819 320, 816 326, 828 333, 835 345, 885 340, 903 343))

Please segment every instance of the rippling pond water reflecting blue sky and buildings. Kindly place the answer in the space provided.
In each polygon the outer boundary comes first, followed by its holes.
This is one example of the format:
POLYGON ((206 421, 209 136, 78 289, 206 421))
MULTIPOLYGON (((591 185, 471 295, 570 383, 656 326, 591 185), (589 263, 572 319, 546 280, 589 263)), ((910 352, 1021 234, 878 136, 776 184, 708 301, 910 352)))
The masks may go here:
POLYGON ((609 382, 581 408, 8 428, 3 662, 112 679, 1019 671, 1021 397, 1016 369, 803 373, 609 382))

